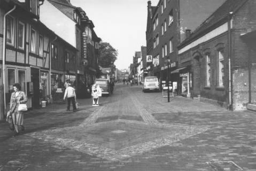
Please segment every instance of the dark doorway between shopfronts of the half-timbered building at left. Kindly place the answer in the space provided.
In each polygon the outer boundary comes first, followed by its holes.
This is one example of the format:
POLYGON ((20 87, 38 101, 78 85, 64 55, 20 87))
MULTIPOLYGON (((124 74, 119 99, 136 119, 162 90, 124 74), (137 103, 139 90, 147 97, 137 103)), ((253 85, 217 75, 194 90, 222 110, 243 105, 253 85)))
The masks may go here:
POLYGON ((32 107, 40 107, 40 98, 39 98, 39 69, 31 68, 31 81, 33 82, 34 94, 32 97, 32 107))

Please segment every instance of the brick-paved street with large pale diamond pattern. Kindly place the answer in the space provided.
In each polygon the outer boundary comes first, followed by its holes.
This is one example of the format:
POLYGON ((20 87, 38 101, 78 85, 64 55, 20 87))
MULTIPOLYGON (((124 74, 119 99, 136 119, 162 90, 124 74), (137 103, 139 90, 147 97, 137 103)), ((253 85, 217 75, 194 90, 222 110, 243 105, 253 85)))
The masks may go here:
POLYGON ((19 136, 0 122, 0 170, 214 170, 207 162, 221 161, 256 170, 254 112, 183 97, 167 103, 123 85, 99 107, 79 102, 75 113, 65 104, 27 112, 19 136))

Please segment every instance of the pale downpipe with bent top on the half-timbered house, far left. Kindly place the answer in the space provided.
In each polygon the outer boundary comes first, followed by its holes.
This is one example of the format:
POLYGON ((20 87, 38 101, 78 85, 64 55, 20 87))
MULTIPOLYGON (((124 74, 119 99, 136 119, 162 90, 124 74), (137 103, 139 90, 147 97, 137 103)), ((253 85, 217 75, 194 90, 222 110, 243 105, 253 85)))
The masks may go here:
POLYGON ((3 87, 4 87, 4 113, 6 110, 6 97, 5 97, 5 44, 6 44, 6 16, 16 9, 16 5, 13 6, 9 12, 4 14, 4 29, 3 29, 3 87))

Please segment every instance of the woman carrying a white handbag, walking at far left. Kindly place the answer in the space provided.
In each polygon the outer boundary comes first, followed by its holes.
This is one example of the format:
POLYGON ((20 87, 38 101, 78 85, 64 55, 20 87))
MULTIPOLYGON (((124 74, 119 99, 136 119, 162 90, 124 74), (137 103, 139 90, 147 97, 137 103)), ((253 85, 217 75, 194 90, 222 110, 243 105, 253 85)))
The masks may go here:
POLYGON ((22 111, 18 111, 19 104, 26 104, 28 100, 25 92, 20 91, 20 89, 21 87, 19 83, 13 84, 14 92, 12 93, 10 100, 10 113, 16 135, 25 130, 25 127, 23 126, 24 113, 22 111))

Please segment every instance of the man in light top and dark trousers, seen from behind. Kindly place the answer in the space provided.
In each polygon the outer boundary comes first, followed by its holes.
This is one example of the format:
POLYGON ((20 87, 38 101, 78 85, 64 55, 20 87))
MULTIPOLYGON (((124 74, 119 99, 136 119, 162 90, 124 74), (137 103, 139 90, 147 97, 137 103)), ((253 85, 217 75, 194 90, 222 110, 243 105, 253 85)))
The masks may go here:
POLYGON ((70 102, 72 102, 73 112, 75 112, 76 111, 76 107, 75 107, 76 94, 75 94, 75 89, 71 87, 70 83, 67 84, 67 88, 65 90, 63 99, 65 100, 66 97, 67 97, 67 111, 70 110, 70 102))

